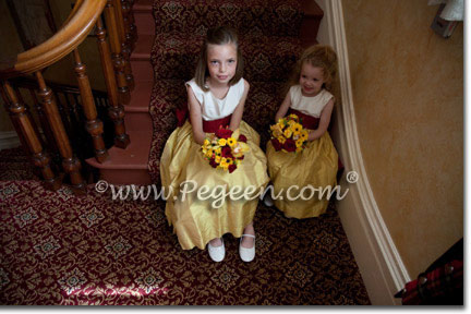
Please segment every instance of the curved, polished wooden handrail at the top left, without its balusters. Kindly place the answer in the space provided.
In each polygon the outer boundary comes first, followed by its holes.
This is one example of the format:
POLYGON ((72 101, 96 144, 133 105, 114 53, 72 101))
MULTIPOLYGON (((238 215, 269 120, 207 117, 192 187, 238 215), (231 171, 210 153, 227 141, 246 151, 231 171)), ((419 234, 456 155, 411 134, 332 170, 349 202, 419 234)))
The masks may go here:
POLYGON ((107 0, 77 1, 72 11, 75 14, 51 38, 17 55, 13 63, 0 63, 0 78, 36 72, 72 52, 95 26, 106 3, 107 0))

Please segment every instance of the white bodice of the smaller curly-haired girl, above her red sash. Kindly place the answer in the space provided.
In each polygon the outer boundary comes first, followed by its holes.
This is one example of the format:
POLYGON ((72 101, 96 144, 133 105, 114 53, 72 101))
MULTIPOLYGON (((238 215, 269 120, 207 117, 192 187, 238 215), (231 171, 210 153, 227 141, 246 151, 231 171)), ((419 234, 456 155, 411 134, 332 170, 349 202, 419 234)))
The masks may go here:
POLYGON ((321 118, 321 112, 327 102, 334 97, 329 92, 322 89, 314 97, 302 95, 301 85, 293 85, 289 90, 291 97, 291 108, 305 114, 321 118))

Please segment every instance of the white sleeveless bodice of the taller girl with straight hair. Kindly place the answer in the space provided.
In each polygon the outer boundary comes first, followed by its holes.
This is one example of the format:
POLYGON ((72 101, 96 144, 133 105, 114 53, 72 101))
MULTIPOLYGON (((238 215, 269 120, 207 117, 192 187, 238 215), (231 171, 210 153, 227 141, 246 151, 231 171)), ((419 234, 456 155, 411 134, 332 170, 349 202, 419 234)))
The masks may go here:
POLYGON ((193 94, 202 107, 202 118, 205 121, 213 121, 232 114, 244 92, 243 78, 230 86, 226 97, 222 99, 216 98, 210 90, 204 92, 194 78, 186 82, 185 85, 193 89, 193 94))

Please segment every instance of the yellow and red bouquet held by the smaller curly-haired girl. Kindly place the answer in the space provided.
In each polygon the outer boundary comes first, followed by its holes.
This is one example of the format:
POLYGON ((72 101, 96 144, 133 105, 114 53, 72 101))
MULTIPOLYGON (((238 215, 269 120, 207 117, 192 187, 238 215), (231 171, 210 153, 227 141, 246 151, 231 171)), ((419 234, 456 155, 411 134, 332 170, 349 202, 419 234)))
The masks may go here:
POLYGON ((303 129, 301 120, 297 114, 278 120, 278 123, 270 125, 271 144, 275 150, 285 153, 299 153, 307 145, 307 130, 303 129))

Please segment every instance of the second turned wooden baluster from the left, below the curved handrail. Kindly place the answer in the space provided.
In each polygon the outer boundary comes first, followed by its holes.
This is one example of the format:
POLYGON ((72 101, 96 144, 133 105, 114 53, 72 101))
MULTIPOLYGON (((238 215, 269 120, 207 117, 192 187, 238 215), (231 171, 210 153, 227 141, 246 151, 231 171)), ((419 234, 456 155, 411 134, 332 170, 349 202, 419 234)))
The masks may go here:
POLYGON ((49 125, 51 126, 56 144, 58 145, 59 152, 62 156, 62 168, 65 173, 70 174, 72 190, 74 191, 74 193, 85 194, 85 182, 80 172, 82 165, 80 160, 75 156, 73 156, 69 137, 65 133, 64 125, 60 118, 56 100, 52 97, 52 90, 46 85, 40 71, 36 72, 36 78, 39 84, 38 95, 40 97, 43 109, 46 113, 49 125))

